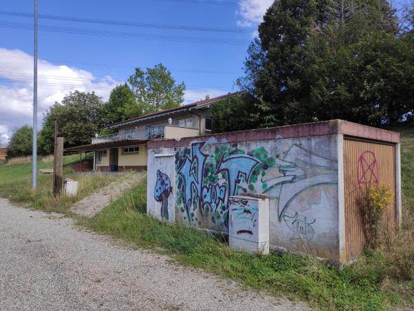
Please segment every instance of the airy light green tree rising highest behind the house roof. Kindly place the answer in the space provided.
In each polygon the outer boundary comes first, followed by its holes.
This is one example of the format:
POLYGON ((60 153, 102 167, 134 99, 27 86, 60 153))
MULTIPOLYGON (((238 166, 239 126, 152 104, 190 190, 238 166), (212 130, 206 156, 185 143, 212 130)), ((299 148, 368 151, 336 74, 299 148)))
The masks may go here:
POLYGON ((145 72, 141 68, 135 68, 128 83, 135 95, 135 103, 128 102, 124 106, 127 118, 175 108, 184 102, 186 85, 184 82, 176 84, 163 64, 147 68, 145 72))

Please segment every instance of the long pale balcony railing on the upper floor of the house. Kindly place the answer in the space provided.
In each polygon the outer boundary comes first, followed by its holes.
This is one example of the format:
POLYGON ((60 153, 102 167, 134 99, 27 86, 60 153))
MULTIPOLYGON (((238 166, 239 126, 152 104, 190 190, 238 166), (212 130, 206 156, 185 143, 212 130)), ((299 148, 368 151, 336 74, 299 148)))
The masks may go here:
POLYGON ((150 140, 152 138, 164 138, 165 126, 150 126, 146 129, 134 129, 109 135, 92 138, 92 144, 102 142, 117 142, 119 140, 150 140))

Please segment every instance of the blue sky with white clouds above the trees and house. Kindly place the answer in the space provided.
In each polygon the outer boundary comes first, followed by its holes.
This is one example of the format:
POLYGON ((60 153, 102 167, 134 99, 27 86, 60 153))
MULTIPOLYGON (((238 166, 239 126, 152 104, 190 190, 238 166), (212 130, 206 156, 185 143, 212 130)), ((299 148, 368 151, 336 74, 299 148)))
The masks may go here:
MULTIPOLYGON (((401 0, 410 1, 410 0, 401 0)), ((167 66, 185 102, 237 91, 273 0, 38 0, 38 122, 70 91, 107 100, 136 67, 167 66)), ((34 0, 0 3, 0 139, 32 125, 34 0)))

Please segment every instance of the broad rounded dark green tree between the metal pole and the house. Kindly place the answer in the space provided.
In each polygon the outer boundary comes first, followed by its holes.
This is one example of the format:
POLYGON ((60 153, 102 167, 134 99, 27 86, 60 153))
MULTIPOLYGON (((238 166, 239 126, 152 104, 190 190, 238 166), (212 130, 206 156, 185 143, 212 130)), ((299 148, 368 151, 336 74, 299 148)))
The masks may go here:
POLYGON ((75 91, 56 102, 43 116, 43 128, 39 135, 39 151, 53 152, 55 120, 59 135, 66 147, 90 144, 91 138, 104 125, 103 103, 95 93, 75 91))

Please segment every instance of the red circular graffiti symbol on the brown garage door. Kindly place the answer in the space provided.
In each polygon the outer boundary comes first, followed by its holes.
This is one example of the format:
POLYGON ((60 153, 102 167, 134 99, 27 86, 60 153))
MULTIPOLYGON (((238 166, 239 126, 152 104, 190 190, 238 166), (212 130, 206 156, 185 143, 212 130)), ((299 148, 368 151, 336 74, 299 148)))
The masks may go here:
POLYGON ((365 151, 358 158, 357 182, 358 188, 364 185, 378 185, 378 165, 375 153, 365 151))

